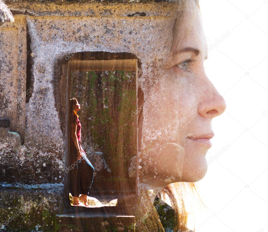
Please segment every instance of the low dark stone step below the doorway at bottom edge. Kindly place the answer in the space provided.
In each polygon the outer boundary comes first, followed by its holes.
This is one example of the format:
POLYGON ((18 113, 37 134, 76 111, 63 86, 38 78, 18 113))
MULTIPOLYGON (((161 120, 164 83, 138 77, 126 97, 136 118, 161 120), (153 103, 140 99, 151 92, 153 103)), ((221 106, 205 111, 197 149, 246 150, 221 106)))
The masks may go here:
POLYGON ((75 207, 75 212, 56 214, 56 231, 135 231, 135 216, 109 213, 103 207, 75 207), (106 212, 105 212, 106 211, 106 212))

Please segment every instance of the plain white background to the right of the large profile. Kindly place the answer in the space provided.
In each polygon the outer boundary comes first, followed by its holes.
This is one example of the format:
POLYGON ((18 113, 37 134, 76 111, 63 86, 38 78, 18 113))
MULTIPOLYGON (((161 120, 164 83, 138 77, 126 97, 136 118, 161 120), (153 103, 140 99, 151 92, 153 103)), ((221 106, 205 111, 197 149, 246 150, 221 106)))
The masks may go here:
POLYGON ((267 3, 200 1, 208 46, 222 34, 230 35, 204 62, 227 108, 212 120, 215 136, 206 158, 220 155, 196 183, 205 206, 189 215, 188 227, 197 232, 268 231, 267 3), (221 152, 228 143, 231 146, 221 152))

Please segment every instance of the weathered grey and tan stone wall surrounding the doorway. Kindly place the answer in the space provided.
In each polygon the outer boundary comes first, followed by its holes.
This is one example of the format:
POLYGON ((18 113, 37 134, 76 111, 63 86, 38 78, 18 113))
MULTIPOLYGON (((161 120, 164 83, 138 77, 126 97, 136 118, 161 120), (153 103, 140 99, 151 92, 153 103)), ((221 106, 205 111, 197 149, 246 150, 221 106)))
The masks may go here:
MULTIPOLYGON (((26 192, 26 185, 54 184, 61 189, 57 192, 60 200, 66 151, 53 85, 55 65, 70 52, 134 54, 140 61, 137 88, 144 98, 139 147, 146 146, 154 137, 147 93, 158 91, 155 68, 162 65, 170 42, 172 28, 167 24, 172 6, 155 2, 5 3, 15 22, 0 28, 0 119, 10 121, 9 128, 1 128, 0 181, 5 189, 1 202, 15 194, 6 188, 10 183, 24 184, 21 188, 26 192)), ((139 155, 138 151, 137 159, 139 155)), ((38 190, 50 199, 48 188, 43 185, 38 190)), ((35 197, 32 191, 28 193, 35 197)), ((53 204, 46 208, 62 210, 53 204)), ((33 220, 40 223, 38 218, 33 220)))

